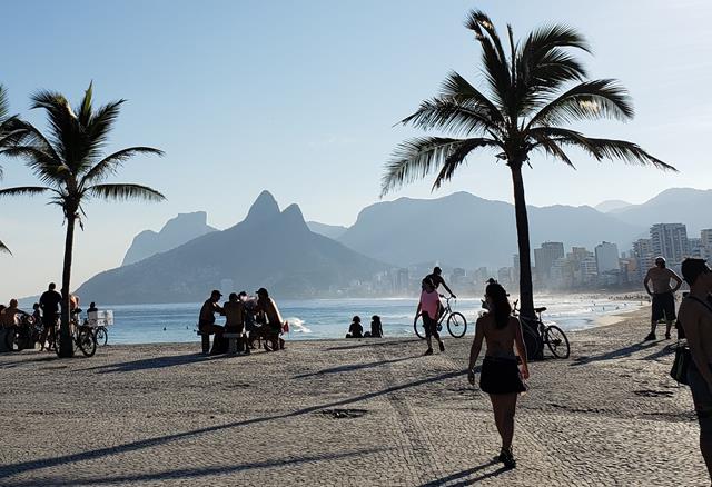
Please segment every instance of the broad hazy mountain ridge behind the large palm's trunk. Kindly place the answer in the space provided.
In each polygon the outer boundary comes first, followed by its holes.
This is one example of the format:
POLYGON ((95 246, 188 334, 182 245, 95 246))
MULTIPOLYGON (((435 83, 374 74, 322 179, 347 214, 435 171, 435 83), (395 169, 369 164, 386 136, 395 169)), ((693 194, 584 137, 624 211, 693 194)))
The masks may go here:
MULTIPOLYGON (((532 249, 543 241, 593 249, 603 240, 625 249, 646 229, 591 207, 528 207, 532 249)), ((514 206, 456 192, 372 205, 339 239, 374 259, 399 266, 439 260, 465 268, 512 266, 517 254, 514 206)))

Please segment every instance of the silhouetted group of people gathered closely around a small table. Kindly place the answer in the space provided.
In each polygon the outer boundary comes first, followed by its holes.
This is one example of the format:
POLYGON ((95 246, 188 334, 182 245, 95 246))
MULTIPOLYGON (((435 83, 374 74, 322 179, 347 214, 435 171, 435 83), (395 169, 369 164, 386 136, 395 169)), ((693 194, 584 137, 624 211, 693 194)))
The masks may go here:
POLYGON ((236 334, 238 352, 249 354, 255 341, 264 341, 266 351, 283 350, 285 340, 280 335, 288 330, 275 300, 265 288, 257 290, 257 297, 247 292, 230 292, 228 300, 219 305, 222 294, 215 289, 202 304, 198 317, 198 331, 215 334, 210 355, 227 352, 225 334, 236 334), (225 326, 216 324, 216 315, 225 316, 225 326))

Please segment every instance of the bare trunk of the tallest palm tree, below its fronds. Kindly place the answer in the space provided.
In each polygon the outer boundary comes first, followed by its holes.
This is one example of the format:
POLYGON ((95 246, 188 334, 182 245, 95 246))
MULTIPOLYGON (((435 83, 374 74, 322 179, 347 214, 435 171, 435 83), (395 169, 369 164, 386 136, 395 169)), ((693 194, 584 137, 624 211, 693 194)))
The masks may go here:
POLYGON ((526 215, 522 162, 510 165, 514 186, 514 212, 516 236, 520 246, 520 312, 523 317, 534 317, 534 291, 532 286, 532 254, 530 249, 530 220, 526 215))

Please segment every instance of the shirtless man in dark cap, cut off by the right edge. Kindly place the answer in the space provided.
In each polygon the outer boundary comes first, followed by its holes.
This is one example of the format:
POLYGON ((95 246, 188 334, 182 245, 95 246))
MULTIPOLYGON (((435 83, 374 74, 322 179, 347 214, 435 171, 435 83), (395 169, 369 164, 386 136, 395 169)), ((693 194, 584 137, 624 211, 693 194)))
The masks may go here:
POLYGON ((685 259, 682 276, 690 285, 680 305, 680 325, 692 355, 688 382, 700 423, 700 450, 712 479, 712 271, 703 259, 685 259))

